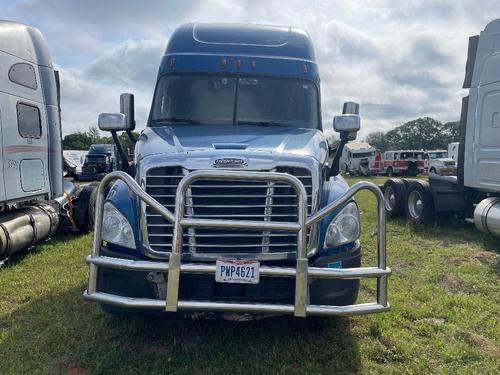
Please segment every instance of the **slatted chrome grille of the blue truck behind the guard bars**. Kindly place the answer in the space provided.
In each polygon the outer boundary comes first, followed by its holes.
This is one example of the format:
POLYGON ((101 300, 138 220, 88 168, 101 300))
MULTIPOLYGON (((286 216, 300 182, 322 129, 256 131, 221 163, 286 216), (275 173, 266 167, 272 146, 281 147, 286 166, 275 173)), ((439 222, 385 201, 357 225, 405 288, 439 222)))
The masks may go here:
MULTIPOLYGON (((304 185, 308 214, 312 210, 312 178, 305 168, 278 167, 304 185)), ((146 192, 174 212, 177 185, 189 170, 158 167, 146 175, 146 192)), ((228 220, 297 221, 297 196, 284 183, 251 180, 198 180, 186 194, 186 217, 228 220)), ((170 252, 173 225, 146 208, 148 241, 155 251, 170 252)), ((296 251, 297 234, 257 232, 241 229, 189 229, 183 233, 183 252, 197 254, 291 253, 296 251)))

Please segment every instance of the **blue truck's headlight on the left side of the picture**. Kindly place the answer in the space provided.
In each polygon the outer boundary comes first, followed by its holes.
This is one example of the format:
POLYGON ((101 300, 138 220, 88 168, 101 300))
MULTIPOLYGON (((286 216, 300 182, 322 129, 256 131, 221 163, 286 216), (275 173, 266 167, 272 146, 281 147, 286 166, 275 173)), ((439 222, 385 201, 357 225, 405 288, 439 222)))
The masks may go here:
POLYGON ((104 203, 101 233, 104 241, 135 249, 132 226, 110 202, 104 203))

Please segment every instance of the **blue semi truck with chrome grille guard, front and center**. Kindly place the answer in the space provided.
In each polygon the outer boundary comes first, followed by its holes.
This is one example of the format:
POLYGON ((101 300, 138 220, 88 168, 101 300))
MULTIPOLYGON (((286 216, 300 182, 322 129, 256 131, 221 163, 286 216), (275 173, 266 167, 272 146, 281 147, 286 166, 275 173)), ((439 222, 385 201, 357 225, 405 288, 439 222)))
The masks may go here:
MULTIPOLYGON (((99 115, 135 127, 133 95, 99 115)), ((335 116, 329 146, 308 34, 294 27, 186 24, 161 60, 135 160, 102 180, 87 300, 108 312, 355 315, 389 310, 384 198, 339 175, 359 106, 335 116), (361 266, 353 199, 378 201, 377 264, 361 266), (377 280, 356 304, 359 280, 377 280)), ((366 250, 365 250, 366 251, 366 250)))

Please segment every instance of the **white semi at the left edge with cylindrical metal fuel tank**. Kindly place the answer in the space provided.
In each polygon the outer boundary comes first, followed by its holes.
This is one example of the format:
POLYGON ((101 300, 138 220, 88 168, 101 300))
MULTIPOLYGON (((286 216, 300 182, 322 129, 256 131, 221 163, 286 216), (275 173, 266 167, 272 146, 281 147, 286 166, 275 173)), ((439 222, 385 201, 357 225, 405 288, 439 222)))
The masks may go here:
POLYGON ((42 34, 0 21, 0 35, 1 260, 58 227, 88 228, 92 188, 63 181, 59 76, 42 34))

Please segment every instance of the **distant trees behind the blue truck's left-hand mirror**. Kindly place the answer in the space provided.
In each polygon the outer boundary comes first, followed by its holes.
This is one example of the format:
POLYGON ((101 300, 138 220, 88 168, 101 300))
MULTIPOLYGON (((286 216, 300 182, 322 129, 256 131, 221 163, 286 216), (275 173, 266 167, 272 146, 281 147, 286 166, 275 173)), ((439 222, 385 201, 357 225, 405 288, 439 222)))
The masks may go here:
MULTIPOLYGON (((139 137, 139 133, 132 133, 136 139, 139 137)), ((121 133, 118 138, 120 139, 125 152, 129 154, 134 152, 134 144, 130 141, 125 132, 121 133)), ((103 137, 100 135, 99 129, 91 126, 86 132, 76 132, 65 136, 63 138, 63 150, 87 151, 90 148, 90 145, 102 143, 113 144, 113 137, 103 137)))

